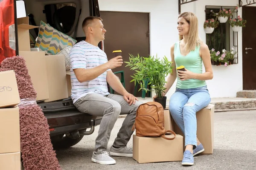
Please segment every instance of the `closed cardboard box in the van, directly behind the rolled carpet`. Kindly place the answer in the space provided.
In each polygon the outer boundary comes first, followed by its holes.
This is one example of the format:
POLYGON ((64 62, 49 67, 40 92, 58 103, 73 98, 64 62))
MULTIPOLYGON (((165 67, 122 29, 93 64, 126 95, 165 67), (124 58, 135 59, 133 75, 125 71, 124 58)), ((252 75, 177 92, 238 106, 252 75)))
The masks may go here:
POLYGON ((20 51, 26 60, 33 87, 37 93, 36 100, 49 99, 48 79, 44 51, 20 51))

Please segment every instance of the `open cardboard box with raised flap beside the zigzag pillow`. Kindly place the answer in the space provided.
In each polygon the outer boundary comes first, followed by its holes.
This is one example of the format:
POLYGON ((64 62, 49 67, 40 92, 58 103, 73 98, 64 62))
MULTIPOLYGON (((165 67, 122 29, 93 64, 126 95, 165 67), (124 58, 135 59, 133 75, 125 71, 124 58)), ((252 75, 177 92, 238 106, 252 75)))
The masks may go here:
POLYGON ((29 30, 39 28, 29 25, 29 17, 17 18, 19 51, 30 51, 29 30))

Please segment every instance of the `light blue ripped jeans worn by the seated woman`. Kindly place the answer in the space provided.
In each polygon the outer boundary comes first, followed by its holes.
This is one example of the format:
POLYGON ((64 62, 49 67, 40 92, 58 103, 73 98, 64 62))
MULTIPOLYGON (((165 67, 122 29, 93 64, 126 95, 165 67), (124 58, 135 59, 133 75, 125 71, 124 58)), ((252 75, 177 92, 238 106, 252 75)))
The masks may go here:
POLYGON ((207 86, 199 88, 179 89, 176 88, 169 103, 169 111, 185 135, 185 146, 188 144, 197 147, 196 140, 196 112, 205 108, 211 102, 207 86))

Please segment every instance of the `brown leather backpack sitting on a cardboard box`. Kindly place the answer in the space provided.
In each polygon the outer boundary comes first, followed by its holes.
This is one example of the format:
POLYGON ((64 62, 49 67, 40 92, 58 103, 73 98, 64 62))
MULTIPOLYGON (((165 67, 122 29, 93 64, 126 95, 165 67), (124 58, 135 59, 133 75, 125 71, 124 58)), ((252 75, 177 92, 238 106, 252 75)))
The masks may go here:
POLYGON ((164 128, 163 106, 158 102, 147 102, 138 107, 132 130, 135 128, 136 136, 160 136, 167 140, 173 140, 176 137, 175 132, 164 128), (170 133, 174 134, 173 138, 165 136, 170 133))

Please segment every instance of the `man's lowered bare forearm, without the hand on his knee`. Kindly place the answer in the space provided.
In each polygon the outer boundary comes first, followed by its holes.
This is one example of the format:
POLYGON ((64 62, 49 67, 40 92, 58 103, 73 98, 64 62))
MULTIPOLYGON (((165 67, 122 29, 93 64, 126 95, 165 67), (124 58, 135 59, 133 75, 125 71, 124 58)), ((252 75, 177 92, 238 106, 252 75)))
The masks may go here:
POLYGON ((113 74, 112 71, 107 71, 107 82, 111 86, 111 88, 113 88, 114 91, 116 91, 117 93, 121 94, 122 96, 125 93, 128 93, 125 90, 125 88, 122 85, 122 83, 120 82, 120 80, 118 79, 118 77, 116 77, 116 75, 113 74))

